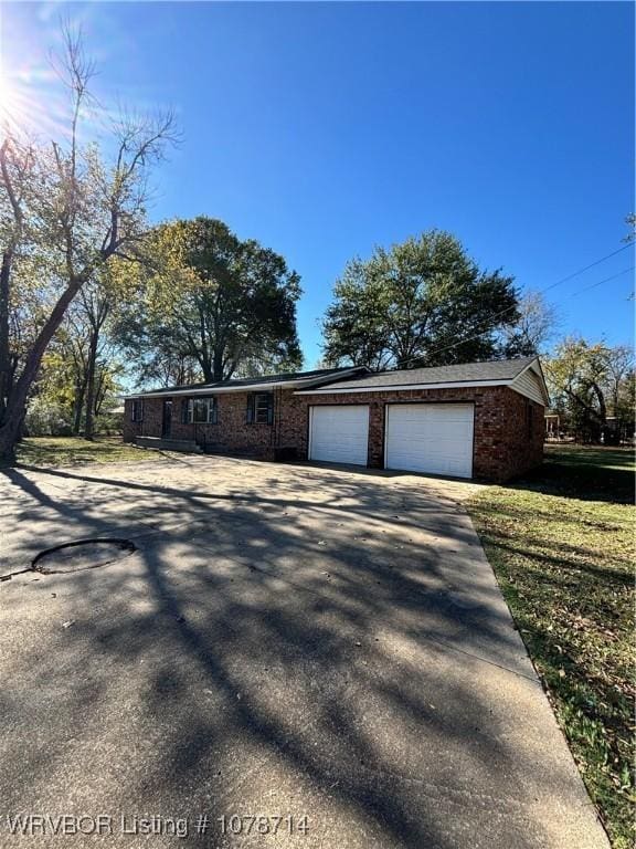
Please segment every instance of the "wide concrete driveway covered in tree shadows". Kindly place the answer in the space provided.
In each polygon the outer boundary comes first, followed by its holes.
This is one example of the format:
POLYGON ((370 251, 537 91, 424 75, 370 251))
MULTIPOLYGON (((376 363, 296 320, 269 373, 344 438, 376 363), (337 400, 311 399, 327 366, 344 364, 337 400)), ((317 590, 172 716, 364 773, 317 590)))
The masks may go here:
POLYGON ((137 546, 0 583, 0 846, 606 847, 469 491, 190 457, 0 474, 0 574, 137 546))

